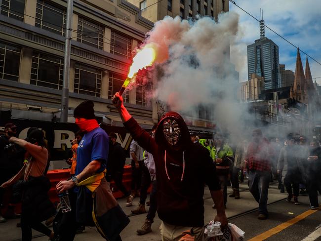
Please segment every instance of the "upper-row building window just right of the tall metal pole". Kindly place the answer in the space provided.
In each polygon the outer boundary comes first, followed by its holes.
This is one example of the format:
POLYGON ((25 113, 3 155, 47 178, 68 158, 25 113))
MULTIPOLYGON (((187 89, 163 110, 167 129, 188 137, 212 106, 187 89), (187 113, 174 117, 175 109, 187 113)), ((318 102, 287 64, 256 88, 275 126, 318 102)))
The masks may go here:
POLYGON ((77 41, 103 49, 104 27, 78 17, 77 41))

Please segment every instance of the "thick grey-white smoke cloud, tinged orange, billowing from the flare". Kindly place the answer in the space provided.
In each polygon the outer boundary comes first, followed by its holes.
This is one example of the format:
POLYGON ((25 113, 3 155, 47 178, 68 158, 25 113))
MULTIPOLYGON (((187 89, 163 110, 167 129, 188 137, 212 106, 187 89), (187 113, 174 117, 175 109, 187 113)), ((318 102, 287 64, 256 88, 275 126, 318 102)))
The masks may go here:
POLYGON ((196 117, 200 109, 207 109, 203 119, 234 135, 241 135, 245 112, 236 104, 239 76, 230 57, 230 45, 235 49, 240 33, 238 22, 235 12, 222 13, 217 21, 166 16, 145 41, 156 49, 159 79, 154 97, 186 116, 196 117))

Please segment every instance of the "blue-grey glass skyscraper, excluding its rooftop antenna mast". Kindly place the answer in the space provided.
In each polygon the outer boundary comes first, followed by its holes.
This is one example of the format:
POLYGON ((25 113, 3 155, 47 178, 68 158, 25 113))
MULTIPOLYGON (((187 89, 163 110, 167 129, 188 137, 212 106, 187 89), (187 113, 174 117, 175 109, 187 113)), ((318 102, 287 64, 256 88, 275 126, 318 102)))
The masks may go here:
POLYGON ((268 38, 255 40, 247 46, 247 74, 264 77, 265 89, 280 87, 279 46, 268 38))

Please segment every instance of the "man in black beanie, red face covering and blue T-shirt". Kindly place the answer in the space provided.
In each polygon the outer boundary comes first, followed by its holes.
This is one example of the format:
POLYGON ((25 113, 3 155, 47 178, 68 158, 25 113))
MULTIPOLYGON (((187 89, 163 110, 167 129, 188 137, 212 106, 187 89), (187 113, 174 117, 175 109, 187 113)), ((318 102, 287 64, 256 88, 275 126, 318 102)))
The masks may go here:
POLYGON ((77 148, 75 176, 56 185, 57 193, 69 190, 72 208, 59 224, 60 241, 73 241, 80 225, 96 225, 106 240, 121 241, 119 234, 129 223, 105 179, 109 139, 95 120, 93 107, 87 100, 74 110, 75 123, 85 134, 77 148))

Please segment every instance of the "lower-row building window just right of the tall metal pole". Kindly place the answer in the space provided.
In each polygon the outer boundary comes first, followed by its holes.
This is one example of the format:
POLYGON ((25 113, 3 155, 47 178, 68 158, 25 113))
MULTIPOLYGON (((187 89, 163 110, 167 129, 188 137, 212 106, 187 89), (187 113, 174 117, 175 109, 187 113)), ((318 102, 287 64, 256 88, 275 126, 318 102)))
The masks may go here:
POLYGON ((84 64, 75 64, 74 92, 100 97, 102 71, 84 64))

